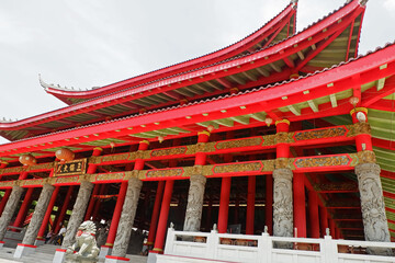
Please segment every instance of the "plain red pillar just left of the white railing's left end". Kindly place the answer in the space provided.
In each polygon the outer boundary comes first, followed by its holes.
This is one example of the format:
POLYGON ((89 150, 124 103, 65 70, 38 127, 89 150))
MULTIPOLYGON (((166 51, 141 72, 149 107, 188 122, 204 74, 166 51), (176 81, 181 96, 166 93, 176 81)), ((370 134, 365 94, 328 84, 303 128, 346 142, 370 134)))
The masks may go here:
POLYGON ((169 217, 170 202, 171 202, 171 194, 172 194, 173 185, 174 185, 174 180, 166 181, 163 201, 162 201, 161 208, 160 208, 157 235, 156 235, 154 250, 153 250, 154 253, 162 253, 163 252, 165 236, 166 236, 167 222, 168 222, 168 217, 169 217))

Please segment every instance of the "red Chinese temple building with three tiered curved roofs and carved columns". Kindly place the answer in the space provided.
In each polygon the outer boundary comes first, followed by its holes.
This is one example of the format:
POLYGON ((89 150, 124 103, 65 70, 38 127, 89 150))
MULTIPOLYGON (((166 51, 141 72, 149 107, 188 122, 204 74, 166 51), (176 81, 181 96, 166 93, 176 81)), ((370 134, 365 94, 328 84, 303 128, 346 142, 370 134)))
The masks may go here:
POLYGON ((223 49, 113 84, 76 91, 41 79, 67 106, 0 123, 10 140, 0 145, 2 245, 26 226, 23 258, 65 225, 61 262, 78 226, 93 220, 109 228, 108 263, 145 249, 150 262, 194 262, 160 255, 172 231, 201 232, 203 244, 214 231, 229 251, 241 245, 235 235, 279 238, 282 250, 297 250, 286 238, 330 236, 382 242, 365 253, 391 254, 395 44, 359 55, 364 0, 296 34, 297 4, 223 49))

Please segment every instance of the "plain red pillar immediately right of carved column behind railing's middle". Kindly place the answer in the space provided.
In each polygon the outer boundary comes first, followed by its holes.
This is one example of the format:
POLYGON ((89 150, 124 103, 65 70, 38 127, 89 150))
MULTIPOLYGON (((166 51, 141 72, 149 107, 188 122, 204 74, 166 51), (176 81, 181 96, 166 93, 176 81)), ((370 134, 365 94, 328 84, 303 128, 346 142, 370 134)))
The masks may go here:
POLYGON ((294 192, 294 227, 297 229, 297 238, 307 238, 306 229, 306 197, 305 175, 295 173, 293 178, 294 192))

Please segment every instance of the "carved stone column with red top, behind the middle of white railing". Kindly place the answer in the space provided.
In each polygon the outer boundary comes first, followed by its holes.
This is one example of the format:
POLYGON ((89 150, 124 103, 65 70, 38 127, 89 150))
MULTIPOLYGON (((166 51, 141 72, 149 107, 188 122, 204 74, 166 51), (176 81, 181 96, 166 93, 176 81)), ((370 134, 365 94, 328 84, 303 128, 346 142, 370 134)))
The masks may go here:
POLYGON ((293 237, 293 173, 287 168, 290 146, 286 144, 290 122, 287 119, 276 121, 275 126, 276 160, 273 171, 273 236, 293 237))

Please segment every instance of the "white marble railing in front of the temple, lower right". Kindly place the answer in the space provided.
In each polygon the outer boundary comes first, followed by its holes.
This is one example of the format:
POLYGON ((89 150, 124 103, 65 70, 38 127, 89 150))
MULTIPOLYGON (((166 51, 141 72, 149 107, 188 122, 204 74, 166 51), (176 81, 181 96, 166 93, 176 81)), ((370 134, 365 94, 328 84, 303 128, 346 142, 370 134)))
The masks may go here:
POLYGON ((183 232, 169 228, 165 254, 158 263, 253 262, 253 263, 387 263, 395 258, 371 255, 366 248, 394 250, 395 243, 262 236, 183 232), (287 249, 280 249, 286 247, 287 249), (213 260, 213 261, 211 261, 213 260))

